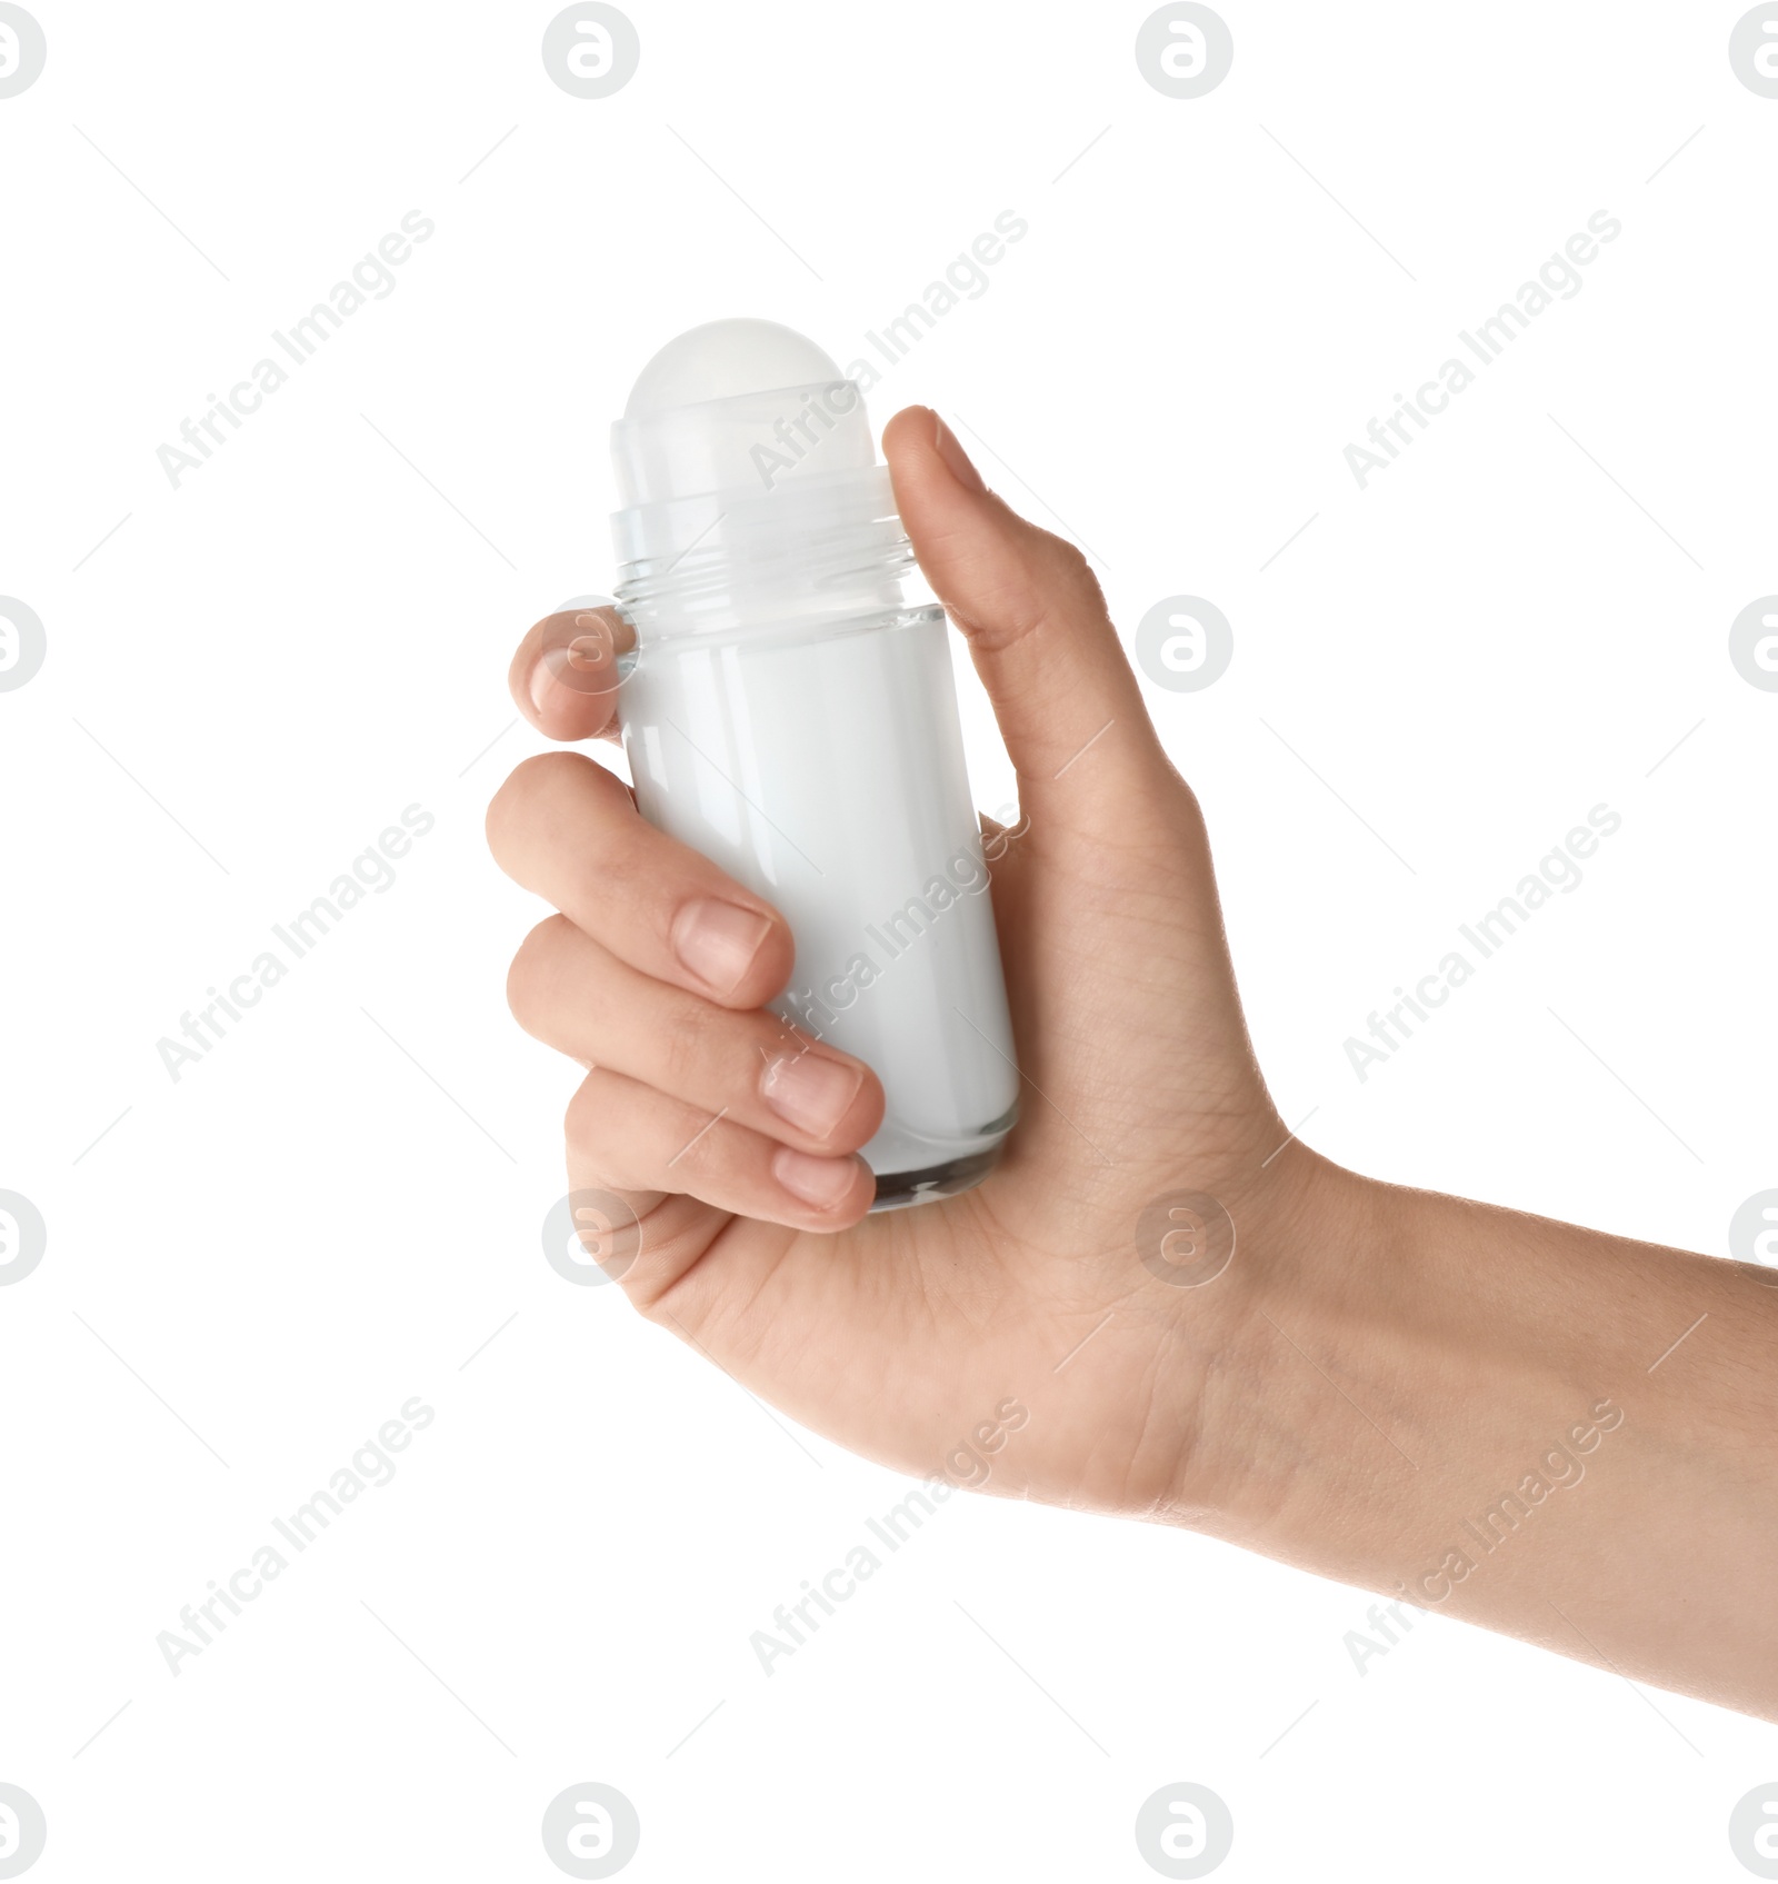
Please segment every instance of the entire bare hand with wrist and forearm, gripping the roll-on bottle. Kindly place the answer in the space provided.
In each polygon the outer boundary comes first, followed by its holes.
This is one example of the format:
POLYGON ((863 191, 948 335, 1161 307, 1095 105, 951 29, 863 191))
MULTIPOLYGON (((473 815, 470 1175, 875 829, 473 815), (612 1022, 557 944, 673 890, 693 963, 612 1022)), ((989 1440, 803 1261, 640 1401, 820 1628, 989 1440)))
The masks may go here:
MULTIPOLYGON (((1021 1123, 979 1189, 866 1217, 881 1093, 761 1010, 784 919, 591 759, 527 759, 490 842, 563 914, 510 999, 590 1068, 569 1181, 635 1211, 631 1300, 898 1470, 1190 1524, 1778 1718, 1770 1272, 1401 1191, 1286 1134, 1198 806, 1085 563, 932 413, 883 450, 1019 772, 989 850, 1021 1123), (1236 1226, 1200 1287, 1138 1232, 1168 1193, 1236 1226)), ((627 633, 533 627, 525 716, 605 731, 627 633)))

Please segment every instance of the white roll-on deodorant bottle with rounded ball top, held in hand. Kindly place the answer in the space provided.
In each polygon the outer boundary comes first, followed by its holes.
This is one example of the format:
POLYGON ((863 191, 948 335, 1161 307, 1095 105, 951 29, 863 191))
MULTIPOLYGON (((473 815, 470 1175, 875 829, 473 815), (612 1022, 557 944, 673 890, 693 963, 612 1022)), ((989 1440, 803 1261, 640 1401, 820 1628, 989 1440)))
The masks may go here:
POLYGON ((944 610, 902 599, 865 399, 789 328, 716 320, 642 369, 612 460, 642 816, 789 921, 776 1012, 883 1081, 874 1208, 964 1191, 1019 1074, 944 610))

